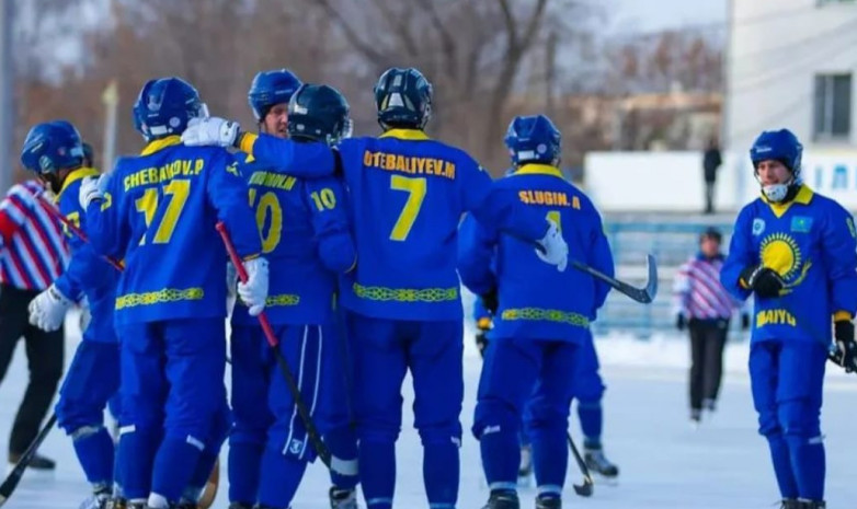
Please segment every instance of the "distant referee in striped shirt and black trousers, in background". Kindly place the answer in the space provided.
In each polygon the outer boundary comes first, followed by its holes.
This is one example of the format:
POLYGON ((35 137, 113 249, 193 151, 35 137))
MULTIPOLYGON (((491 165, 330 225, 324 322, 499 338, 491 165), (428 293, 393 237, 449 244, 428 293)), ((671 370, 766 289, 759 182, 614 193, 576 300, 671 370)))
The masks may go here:
MULTIPOLYGON (((709 228, 699 238, 699 253, 684 264, 673 285, 676 327, 690 332, 690 420, 698 424, 702 408, 713 412, 723 372, 729 320, 741 303, 720 285, 722 236, 709 228)), ((750 315, 741 314, 741 327, 750 327, 750 315)))

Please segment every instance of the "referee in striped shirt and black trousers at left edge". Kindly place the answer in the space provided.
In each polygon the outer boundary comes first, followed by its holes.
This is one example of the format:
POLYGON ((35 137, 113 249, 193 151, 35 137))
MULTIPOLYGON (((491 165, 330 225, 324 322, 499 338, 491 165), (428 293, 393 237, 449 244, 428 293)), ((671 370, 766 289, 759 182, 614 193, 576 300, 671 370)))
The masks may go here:
MULTIPOLYGON (((65 269, 69 250, 59 222, 37 196, 45 188, 26 181, 0 201, 0 382, 18 340, 23 337, 30 384, 9 439, 9 462, 16 463, 35 439, 62 375, 64 331, 45 332, 28 323, 27 305, 65 269)), ((53 470, 52 460, 36 455, 31 468, 53 470)))

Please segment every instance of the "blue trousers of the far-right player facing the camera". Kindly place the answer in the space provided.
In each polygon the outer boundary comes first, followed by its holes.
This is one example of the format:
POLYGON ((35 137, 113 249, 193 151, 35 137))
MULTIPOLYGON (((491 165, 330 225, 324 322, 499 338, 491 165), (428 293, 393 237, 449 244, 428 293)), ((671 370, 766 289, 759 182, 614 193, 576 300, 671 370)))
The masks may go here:
POLYGON ((821 343, 766 340, 750 349, 753 406, 784 498, 824 498, 821 405, 827 354, 821 343))

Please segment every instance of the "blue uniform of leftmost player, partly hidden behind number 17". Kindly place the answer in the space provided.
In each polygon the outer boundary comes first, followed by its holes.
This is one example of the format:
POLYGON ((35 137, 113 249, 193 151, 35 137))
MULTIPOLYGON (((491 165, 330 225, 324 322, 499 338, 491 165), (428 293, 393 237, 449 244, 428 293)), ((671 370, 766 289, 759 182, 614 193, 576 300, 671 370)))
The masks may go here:
MULTIPOLYGON (((80 182, 96 175, 90 167, 73 171, 56 197, 59 211, 75 225, 85 228, 87 222, 78 200, 80 182)), ((57 423, 72 437, 87 481, 106 489, 113 485, 114 451, 104 408, 119 387, 119 345, 113 327, 118 271, 68 228, 64 230, 71 259, 55 285, 72 299, 85 296, 92 319, 59 390, 57 423)))

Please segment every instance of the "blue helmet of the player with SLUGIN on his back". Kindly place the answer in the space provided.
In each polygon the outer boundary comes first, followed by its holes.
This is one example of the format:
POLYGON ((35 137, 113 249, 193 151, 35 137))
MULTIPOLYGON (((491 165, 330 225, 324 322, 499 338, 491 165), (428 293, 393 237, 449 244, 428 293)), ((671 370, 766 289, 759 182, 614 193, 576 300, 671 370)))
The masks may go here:
POLYGON ((559 130, 545 115, 517 116, 512 119, 503 140, 516 165, 524 163, 557 164, 562 154, 559 130))

